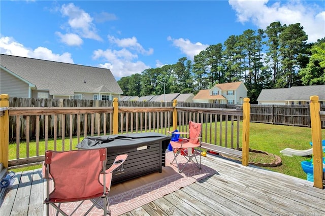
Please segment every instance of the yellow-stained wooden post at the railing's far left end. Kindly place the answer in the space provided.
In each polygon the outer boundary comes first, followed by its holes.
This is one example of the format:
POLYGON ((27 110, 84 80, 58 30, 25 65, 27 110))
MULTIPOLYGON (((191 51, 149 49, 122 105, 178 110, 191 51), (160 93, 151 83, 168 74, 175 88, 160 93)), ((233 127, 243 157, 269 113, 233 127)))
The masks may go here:
MULTIPOLYGON (((0 107, 9 107, 9 95, 0 95, 0 107)), ((9 112, 0 111, 0 163, 8 168, 9 161, 9 112)))

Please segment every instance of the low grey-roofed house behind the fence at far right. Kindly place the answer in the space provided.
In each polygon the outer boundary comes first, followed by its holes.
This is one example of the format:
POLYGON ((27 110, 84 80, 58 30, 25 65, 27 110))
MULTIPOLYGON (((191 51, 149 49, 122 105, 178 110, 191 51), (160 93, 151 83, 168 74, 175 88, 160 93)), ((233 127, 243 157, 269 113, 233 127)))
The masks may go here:
POLYGON ((319 97, 320 104, 325 104, 325 85, 263 89, 257 101, 258 104, 309 104, 310 96, 313 95, 319 97))

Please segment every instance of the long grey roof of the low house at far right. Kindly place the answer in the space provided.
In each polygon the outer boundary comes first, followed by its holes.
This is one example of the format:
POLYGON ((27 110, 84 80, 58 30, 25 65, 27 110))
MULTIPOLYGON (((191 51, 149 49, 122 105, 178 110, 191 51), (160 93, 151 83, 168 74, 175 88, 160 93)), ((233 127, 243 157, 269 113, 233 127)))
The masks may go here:
POLYGON ((291 88, 263 89, 257 101, 264 100, 300 100, 308 101, 310 96, 318 95, 319 100, 325 100, 325 85, 295 86, 291 88))

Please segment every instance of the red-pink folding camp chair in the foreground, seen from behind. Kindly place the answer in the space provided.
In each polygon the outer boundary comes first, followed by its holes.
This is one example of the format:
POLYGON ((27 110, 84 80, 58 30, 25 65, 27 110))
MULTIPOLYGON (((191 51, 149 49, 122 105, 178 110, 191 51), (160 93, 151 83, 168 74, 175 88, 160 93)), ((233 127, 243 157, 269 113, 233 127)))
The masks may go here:
MULTIPOLYGON (((104 215, 111 214, 108 203, 108 194, 111 188, 112 173, 122 165, 127 155, 119 155, 112 166, 105 170, 107 155, 106 148, 73 150, 67 152, 46 151, 43 167, 43 178, 46 178, 47 215, 49 205, 52 205, 57 214, 68 215, 60 205, 64 202, 81 201, 71 212, 72 215, 81 204, 88 199, 93 201, 92 206, 84 214, 103 199, 104 215), (54 190, 50 193, 50 180, 53 180, 54 190)), ((69 212, 70 213, 70 212, 69 212)))

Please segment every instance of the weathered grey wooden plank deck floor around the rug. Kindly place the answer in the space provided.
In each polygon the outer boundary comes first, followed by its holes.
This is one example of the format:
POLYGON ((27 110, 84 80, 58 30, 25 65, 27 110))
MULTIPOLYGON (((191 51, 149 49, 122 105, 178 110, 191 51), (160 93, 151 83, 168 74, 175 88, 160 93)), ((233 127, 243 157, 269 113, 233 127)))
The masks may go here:
MULTIPOLYGON (((304 179, 212 155, 202 163, 217 173, 123 215, 325 215, 325 190, 304 179)), ((41 170, 16 176, 0 215, 43 215, 41 170)))

